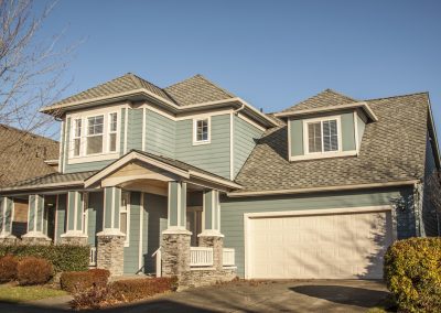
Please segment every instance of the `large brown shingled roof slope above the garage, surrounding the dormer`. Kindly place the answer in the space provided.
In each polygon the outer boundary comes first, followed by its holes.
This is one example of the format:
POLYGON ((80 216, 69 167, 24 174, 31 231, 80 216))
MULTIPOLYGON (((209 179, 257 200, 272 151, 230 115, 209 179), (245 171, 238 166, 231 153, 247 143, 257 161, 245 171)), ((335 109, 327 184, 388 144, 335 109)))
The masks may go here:
MULTIPOLYGON (((325 90, 301 102, 353 99, 325 90)), ((268 130, 236 177, 241 192, 281 191, 419 180, 424 173, 427 93, 366 100, 378 121, 366 125, 358 156, 288 161, 287 126, 268 130)), ((293 108, 291 108, 293 109, 293 108)))

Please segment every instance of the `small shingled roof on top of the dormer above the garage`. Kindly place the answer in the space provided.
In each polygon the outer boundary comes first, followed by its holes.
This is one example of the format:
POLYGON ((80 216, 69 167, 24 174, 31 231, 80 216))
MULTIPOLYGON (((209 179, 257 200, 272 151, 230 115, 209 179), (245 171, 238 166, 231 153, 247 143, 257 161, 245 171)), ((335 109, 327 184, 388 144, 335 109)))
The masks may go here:
POLYGON ((281 112, 294 112, 301 110, 334 107, 340 105, 348 105, 357 101, 358 100, 342 95, 332 89, 325 89, 320 94, 312 96, 311 98, 308 98, 306 100, 303 100, 297 105, 293 105, 292 107, 289 107, 288 109, 282 110, 281 112))

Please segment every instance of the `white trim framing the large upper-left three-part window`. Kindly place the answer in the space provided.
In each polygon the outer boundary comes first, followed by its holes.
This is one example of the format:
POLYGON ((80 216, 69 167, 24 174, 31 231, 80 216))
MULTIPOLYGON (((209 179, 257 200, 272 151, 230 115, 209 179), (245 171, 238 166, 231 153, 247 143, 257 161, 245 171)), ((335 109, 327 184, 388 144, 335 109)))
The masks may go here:
POLYGON ((82 162, 93 162, 103 160, 112 160, 119 158, 120 152, 120 134, 121 134, 121 122, 120 122, 120 108, 112 108, 111 110, 94 110, 87 114, 75 114, 68 116, 71 118, 71 138, 68 139, 68 164, 76 164, 82 162), (117 114, 117 149, 116 151, 109 150, 109 118, 111 114, 117 114), (88 136, 88 118, 104 116, 103 125, 103 152, 86 154, 87 152, 87 138, 88 136), (75 120, 82 120, 82 137, 80 137, 80 148, 79 155, 74 155, 74 138, 75 137, 75 120))

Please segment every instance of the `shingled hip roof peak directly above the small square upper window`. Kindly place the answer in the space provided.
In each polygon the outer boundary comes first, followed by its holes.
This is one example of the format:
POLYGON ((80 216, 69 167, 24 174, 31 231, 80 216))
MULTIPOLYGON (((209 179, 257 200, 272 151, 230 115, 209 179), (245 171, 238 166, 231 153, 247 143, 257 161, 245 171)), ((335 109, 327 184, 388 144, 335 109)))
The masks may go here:
POLYGON ((197 74, 164 89, 180 106, 236 98, 229 91, 197 74))

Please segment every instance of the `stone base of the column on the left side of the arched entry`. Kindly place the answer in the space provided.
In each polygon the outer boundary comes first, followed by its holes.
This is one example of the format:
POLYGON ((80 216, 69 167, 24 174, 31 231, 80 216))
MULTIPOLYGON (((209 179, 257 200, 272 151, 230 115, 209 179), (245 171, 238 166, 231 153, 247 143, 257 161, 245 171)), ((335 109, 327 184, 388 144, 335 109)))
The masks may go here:
POLYGON ((97 268, 110 271, 110 276, 123 273, 123 244, 126 235, 118 231, 104 230, 97 234, 97 268))

